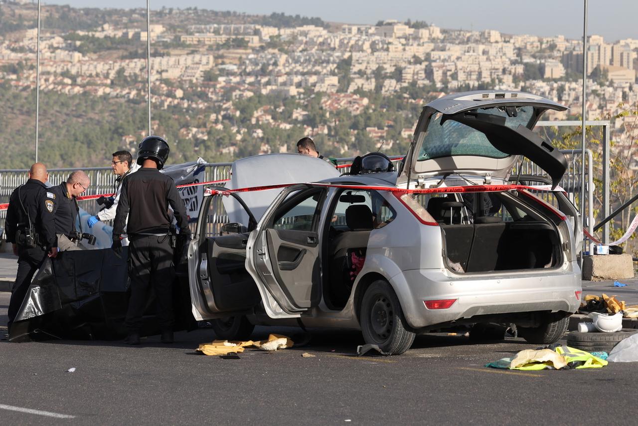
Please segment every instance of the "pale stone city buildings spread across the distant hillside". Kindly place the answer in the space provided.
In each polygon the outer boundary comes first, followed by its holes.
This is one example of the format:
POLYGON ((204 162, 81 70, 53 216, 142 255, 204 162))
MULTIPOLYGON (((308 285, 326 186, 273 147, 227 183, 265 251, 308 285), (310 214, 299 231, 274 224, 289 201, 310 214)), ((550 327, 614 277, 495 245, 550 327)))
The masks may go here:
MULTIPOLYGON (((77 40, 59 32, 43 32, 44 91, 144 98, 145 59, 105 59, 98 54, 82 54, 78 49, 87 37, 133 40, 145 49, 149 36, 145 27, 105 24, 75 34, 77 40), (114 86, 118 75, 135 77, 135 84, 114 86)), ((224 116, 238 114, 233 100, 257 93, 308 98, 321 92, 325 93, 322 107, 326 111, 346 109, 353 115, 367 107, 362 92, 380 90, 392 96, 410 85, 433 88, 430 97, 476 87, 523 89, 571 109, 554 112, 548 119, 577 116, 583 102, 589 119, 614 116, 620 105, 638 102, 638 40, 634 39, 611 42, 602 36, 590 36, 586 54, 591 82, 587 98, 582 99, 582 43, 561 35, 501 34, 489 29, 467 31, 434 25, 415 28, 390 20, 379 26, 345 24, 329 29, 210 24, 189 26, 185 32, 175 31, 169 24, 153 24, 150 37, 152 46, 179 42, 178 53, 176 50, 170 56, 151 59, 152 107, 181 105, 205 110, 210 105, 221 105, 222 113, 212 126, 219 126, 224 116), (214 73, 215 78, 201 86, 207 93, 205 99, 184 99, 183 90, 170 84, 181 81, 198 85, 207 73, 214 73)), ((35 49, 36 29, 24 32, 20 40, 0 40, 0 65, 25 60, 34 63, 35 49)), ((9 80, 17 89, 33 88, 35 70, 27 69, 20 75, 0 72, 0 79, 9 80)), ((301 121, 304 114, 307 112, 303 109, 295 110, 293 122, 283 123, 273 121, 267 110, 260 110, 251 122, 286 128, 301 121)), ((622 142, 625 121, 620 118, 614 123, 614 137, 622 142)), ((401 135, 410 139, 410 131, 403 129, 401 135)), ((238 128, 237 132, 245 130, 238 128)), ((323 132, 327 132, 326 125, 306 126, 310 135, 323 132)), ((369 128, 367 132, 376 140, 385 135, 381 128, 369 128)), ((259 137, 259 132, 255 136, 259 137)))

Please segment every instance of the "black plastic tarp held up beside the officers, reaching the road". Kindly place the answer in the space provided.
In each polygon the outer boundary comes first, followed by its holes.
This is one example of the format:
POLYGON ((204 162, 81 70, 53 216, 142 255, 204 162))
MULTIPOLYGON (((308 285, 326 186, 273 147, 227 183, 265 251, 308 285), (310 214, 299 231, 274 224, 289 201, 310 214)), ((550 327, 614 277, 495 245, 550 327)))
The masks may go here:
MULTIPOLYGON (((129 297, 127 255, 125 247, 121 257, 105 248, 61 252, 55 259, 47 258, 11 326, 10 340, 124 337, 129 297)), ((188 278, 179 268, 173 294, 175 330, 194 328, 188 278)), ((142 335, 159 333, 154 308, 151 291, 142 335)))

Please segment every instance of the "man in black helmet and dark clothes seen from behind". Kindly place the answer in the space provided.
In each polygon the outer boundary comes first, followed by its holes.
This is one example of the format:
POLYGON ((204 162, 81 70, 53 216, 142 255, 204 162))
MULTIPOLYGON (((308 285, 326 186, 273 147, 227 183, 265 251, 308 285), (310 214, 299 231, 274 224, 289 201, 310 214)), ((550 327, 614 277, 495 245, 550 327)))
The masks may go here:
POLYGON ((175 182, 161 174, 170 149, 158 136, 146 137, 140 143, 137 164, 142 167, 122 180, 122 190, 113 224, 113 248, 121 253, 121 237, 126 225, 128 234, 129 276, 131 298, 126 312, 126 343, 140 344, 142 314, 146 305, 146 293, 154 287, 161 328, 161 342, 173 342, 172 285, 175 277, 170 224, 173 209, 179 226, 181 248, 190 239, 184 202, 179 197, 175 182), (128 215, 128 224, 126 217, 128 215))

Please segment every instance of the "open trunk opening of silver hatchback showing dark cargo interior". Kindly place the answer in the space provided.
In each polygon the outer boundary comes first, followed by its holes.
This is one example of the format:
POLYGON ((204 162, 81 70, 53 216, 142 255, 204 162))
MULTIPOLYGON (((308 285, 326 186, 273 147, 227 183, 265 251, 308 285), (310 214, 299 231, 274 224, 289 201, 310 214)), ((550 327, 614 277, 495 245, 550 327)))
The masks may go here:
POLYGON ((427 211, 440 225, 447 267, 457 273, 480 273, 560 265, 560 218, 532 197, 477 192, 429 199, 427 211))

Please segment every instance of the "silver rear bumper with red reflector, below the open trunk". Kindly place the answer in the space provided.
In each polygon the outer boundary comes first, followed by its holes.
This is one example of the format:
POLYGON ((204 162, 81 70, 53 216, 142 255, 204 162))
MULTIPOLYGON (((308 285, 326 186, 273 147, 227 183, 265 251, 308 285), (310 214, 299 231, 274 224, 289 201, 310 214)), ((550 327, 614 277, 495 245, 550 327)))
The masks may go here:
POLYGON ((399 289, 397 296, 406 321, 413 328, 484 315, 575 312, 580 305, 575 292, 582 290, 579 270, 459 278, 440 270, 412 270, 393 277, 392 281, 399 289), (401 288, 409 290, 401 292, 401 288), (449 299, 456 301, 447 309, 428 309, 424 303, 449 299))

